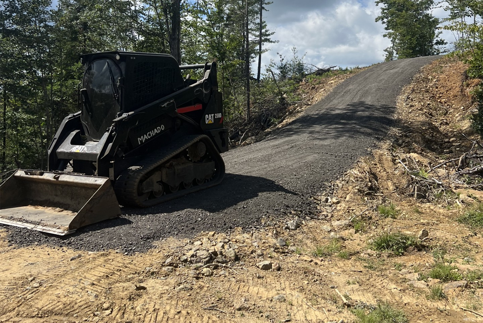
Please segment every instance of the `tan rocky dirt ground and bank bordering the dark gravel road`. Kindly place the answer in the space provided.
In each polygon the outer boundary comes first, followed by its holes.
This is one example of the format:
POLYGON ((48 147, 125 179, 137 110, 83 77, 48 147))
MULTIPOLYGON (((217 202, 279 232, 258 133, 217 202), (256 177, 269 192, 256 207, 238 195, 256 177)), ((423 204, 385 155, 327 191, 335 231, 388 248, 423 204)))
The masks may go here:
POLYGON ((482 321, 482 231, 457 222, 483 198, 459 191, 476 159, 460 157, 479 154, 464 70, 443 59, 416 75, 387 141, 314 196, 311 217, 132 256, 16 248, 0 232, 0 322, 357 322, 380 302, 414 323, 482 321), (398 248, 378 250, 386 233, 398 248))

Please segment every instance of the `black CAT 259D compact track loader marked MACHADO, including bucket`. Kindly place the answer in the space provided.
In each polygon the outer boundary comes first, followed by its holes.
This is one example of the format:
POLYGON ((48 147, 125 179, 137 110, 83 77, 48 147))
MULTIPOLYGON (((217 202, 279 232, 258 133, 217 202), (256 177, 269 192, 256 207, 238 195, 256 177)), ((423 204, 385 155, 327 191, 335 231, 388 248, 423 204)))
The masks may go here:
POLYGON ((62 121, 48 170, 18 170, 0 186, 0 223, 67 235, 221 182, 228 150, 216 63, 179 66, 167 54, 83 55, 80 111, 62 121), (182 70, 203 69, 201 79, 182 70))

